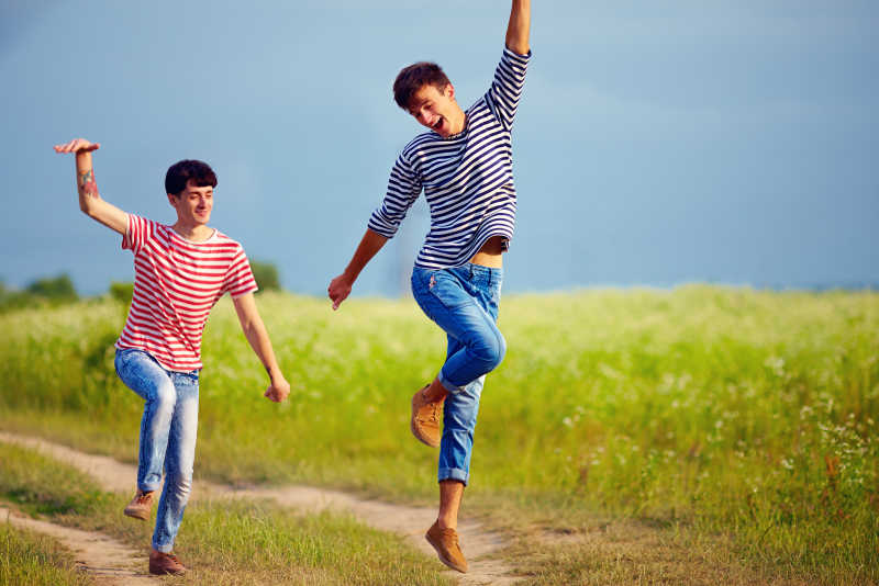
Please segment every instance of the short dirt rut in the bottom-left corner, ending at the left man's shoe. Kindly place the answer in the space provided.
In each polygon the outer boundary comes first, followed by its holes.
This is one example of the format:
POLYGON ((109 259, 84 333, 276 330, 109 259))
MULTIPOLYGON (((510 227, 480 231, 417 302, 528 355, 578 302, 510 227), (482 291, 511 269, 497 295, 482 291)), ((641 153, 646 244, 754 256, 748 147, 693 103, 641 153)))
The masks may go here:
POLYGON ((80 531, 46 521, 25 517, 0 505, 0 522, 9 521, 13 527, 30 529, 58 540, 74 552, 77 568, 88 572, 100 585, 105 586, 156 586, 157 581, 143 571, 143 552, 135 551, 102 533, 80 531))

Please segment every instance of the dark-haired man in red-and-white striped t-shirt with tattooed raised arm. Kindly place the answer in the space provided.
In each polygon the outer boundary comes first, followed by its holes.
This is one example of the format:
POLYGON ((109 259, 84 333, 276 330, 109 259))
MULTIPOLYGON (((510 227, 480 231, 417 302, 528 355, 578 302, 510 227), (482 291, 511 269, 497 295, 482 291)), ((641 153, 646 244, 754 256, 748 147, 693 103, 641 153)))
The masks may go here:
POLYGON ((216 187, 213 170, 198 160, 182 160, 168 169, 165 191, 177 222, 166 226, 126 214, 101 199, 91 162, 91 151, 99 146, 76 138, 55 146, 55 151, 76 154, 80 210, 120 233, 122 248, 134 253, 134 295, 115 343, 115 369, 145 405, 137 493, 125 515, 149 518, 164 470, 149 573, 179 574, 186 568, 171 551, 192 485, 201 334, 224 293, 232 295, 244 335, 268 372, 265 396, 279 403, 290 385, 257 312, 256 281, 244 249, 208 226, 216 187))

